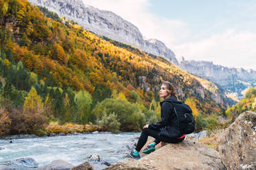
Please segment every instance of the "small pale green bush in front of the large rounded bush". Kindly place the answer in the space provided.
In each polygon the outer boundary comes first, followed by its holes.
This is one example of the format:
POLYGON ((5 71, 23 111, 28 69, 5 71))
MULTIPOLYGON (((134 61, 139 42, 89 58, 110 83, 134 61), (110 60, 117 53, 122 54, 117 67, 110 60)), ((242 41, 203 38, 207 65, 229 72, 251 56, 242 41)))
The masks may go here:
POLYGON ((100 120, 97 120, 97 124, 100 126, 101 130, 113 133, 118 132, 120 127, 120 123, 114 113, 110 113, 107 116, 107 113, 104 112, 103 117, 100 120))

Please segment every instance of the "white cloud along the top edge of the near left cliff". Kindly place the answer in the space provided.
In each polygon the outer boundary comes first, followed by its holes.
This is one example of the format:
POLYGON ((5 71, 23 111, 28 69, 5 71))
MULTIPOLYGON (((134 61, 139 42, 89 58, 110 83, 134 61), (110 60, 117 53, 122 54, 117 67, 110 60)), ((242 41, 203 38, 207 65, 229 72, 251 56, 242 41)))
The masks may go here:
POLYGON ((159 18, 151 14, 148 0, 86 0, 85 3, 118 14, 136 25, 146 38, 161 40, 170 48, 189 34, 189 29, 182 21, 159 18))

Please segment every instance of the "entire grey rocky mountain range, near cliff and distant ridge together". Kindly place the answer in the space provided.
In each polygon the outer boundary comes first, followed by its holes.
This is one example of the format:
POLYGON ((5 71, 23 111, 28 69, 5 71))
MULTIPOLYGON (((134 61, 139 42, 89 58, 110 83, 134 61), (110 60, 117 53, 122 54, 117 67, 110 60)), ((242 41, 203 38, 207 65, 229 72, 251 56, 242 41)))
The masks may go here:
POLYGON ((58 16, 65 16, 65 19, 76 21, 85 29, 112 40, 151 53, 156 56, 164 56, 181 69, 204 77, 216 83, 219 88, 231 99, 238 101, 242 98, 244 90, 255 86, 255 71, 244 69, 229 69, 225 66, 204 61, 186 61, 175 58, 175 53, 164 45, 164 42, 156 39, 145 39, 138 28, 125 21, 113 12, 98 10, 86 5, 81 0, 29 0, 34 5, 43 6, 58 16))

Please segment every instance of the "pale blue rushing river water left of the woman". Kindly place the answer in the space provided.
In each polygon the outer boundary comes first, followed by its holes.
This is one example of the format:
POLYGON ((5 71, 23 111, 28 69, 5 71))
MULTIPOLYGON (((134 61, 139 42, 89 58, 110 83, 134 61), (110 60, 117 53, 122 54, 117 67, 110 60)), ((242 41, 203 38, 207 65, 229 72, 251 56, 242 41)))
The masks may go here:
POLYGON ((17 158, 34 158, 40 165, 52 160, 65 160, 79 165, 92 154, 101 160, 117 162, 126 154, 128 146, 136 143, 140 133, 96 133, 70 136, 0 140, 0 163, 17 158))

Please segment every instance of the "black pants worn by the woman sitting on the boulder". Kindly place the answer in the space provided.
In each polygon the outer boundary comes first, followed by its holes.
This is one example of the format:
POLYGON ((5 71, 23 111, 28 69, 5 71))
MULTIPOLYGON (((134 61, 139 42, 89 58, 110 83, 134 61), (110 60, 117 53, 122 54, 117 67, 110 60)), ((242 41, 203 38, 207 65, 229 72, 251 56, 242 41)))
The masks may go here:
POLYGON ((155 141, 153 141, 153 142, 156 143, 156 145, 158 143, 160 143, 161 141, 164 143, 179 143, 179 142, 183 141, 185 138, 185 137, 184 138, 160 137, 159 132, 160 132, 160 130, 153 130, 153 129, 149 129, 149 128, 143 129, 140 134, 140 138, 138 140, 137 146, 135 148, 136 151, 140 151, 140 149, 142 149, 142 147, 147 143, 148 136, 152 136, 153 138, 155 138, 155 141))

